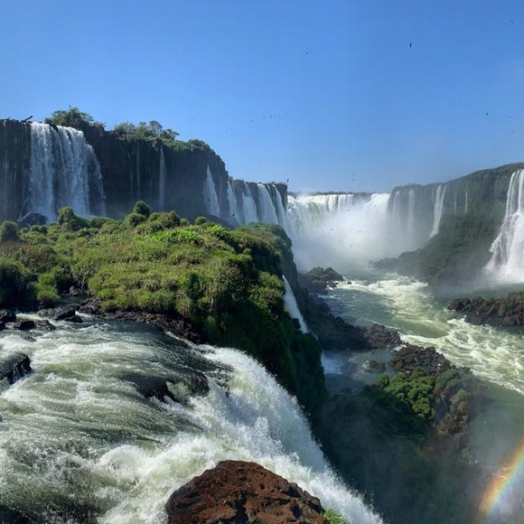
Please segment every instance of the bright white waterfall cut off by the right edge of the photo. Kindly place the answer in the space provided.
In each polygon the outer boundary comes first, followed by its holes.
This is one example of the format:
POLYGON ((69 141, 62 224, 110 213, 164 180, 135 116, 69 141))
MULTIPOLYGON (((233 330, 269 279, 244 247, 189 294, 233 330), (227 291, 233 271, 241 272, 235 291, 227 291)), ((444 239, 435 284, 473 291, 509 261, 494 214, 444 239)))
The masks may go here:
POLYGON ((524 280, 524 170, 511 175, 506 213, 497 238, 491 245, 486 272, 509 281, 524 280))

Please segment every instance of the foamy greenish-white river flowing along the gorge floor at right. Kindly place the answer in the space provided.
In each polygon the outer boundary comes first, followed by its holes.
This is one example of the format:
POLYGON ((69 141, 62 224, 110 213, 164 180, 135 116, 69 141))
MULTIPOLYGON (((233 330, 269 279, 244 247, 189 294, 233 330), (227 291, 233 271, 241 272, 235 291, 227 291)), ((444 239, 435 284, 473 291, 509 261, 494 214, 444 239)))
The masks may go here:
POLYGON ((406 342, 433 346, 455 365, 524 394, 522 334, 469 324, 436 302, 426 284, 407 277, 352 280, 337 288, 334 296, 359 322, 398 329, 406 342))

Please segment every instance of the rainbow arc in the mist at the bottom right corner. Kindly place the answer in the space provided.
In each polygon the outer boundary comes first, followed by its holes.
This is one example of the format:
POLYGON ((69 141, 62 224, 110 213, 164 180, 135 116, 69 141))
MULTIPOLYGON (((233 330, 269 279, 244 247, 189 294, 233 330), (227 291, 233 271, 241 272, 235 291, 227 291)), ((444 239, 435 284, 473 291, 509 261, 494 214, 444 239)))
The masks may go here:
POLYGON ((498 524, 505 522, 505 516, 514 515, 515 504, 522 498, 523 481, 524 439, 484 490, 475 523, 498 524))

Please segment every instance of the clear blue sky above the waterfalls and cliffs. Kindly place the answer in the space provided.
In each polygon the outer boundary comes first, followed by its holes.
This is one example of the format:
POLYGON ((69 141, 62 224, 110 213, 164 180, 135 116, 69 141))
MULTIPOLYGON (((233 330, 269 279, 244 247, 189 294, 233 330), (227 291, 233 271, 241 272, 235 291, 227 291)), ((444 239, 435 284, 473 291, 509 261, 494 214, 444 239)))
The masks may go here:
POLYGON ((389 191, 524 161, 522 0, 0 0, 0 118, 158 120, 229 174, 389 191))

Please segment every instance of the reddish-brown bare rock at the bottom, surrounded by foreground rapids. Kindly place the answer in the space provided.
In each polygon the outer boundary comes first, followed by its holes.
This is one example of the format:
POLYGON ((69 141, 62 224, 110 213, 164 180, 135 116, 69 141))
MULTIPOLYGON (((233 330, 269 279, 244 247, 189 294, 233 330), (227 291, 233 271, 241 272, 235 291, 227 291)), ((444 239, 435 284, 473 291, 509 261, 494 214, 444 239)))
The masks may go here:
POLYGON ((168 524, 326 524, 320 501, 253 462, 226 460, 175 491, 168 524))

